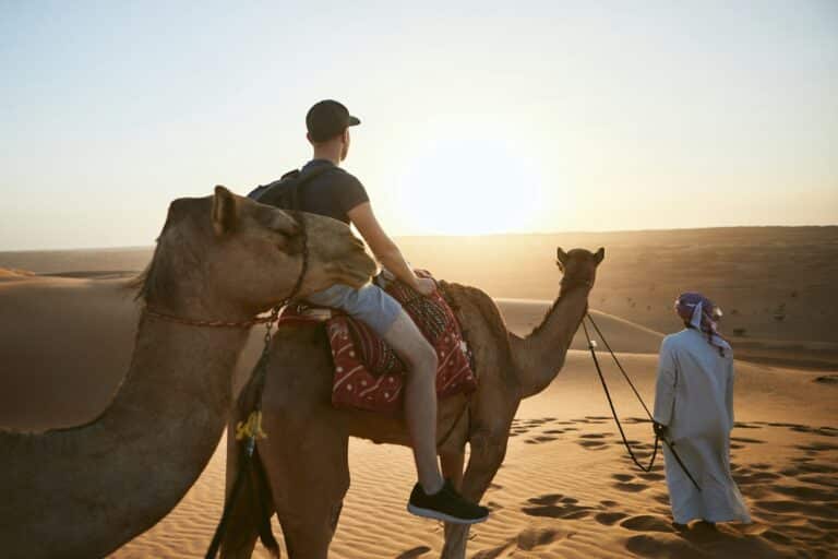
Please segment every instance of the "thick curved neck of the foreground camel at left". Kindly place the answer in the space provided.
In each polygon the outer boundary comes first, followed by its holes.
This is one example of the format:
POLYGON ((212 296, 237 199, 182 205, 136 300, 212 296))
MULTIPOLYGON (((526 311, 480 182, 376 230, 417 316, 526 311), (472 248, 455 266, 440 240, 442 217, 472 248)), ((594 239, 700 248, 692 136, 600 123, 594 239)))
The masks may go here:
POLYGON ((0 518, 14 511, 31 524, 15 530, 27 534, 29 557, 105 556, 177 504, 218 444, 247 336, 144 314, 129 372, 99 417, 44 433, 0 432, 0 518), (48 506, 37 498, 45 493, 53 495, 48 506), (91 512, 71 518, 80 510, 91 512), (63 522, 74 523, 73 538, 55 542, 63 522))

